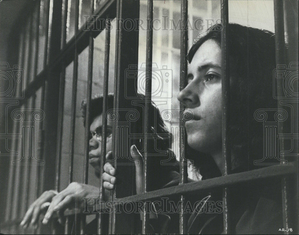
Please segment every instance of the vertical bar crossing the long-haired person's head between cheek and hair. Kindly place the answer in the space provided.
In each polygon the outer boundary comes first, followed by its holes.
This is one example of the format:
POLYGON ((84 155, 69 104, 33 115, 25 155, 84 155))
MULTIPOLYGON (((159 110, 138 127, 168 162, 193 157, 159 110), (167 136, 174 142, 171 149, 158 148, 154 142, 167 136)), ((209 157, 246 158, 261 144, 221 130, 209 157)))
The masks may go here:
MULTIPOLYGON (((222 156, 224 159, 222 175, 230 173, 231 149, 228 139, 230 125, 230 78, 229 78, 229 47, 228 47, 228 0, 221 0, 221 57, 222 57, 222 156)), ((229 189, 223 189, 223 228, 225 234, 231 233, 231 217, 229 214, 229 189)))

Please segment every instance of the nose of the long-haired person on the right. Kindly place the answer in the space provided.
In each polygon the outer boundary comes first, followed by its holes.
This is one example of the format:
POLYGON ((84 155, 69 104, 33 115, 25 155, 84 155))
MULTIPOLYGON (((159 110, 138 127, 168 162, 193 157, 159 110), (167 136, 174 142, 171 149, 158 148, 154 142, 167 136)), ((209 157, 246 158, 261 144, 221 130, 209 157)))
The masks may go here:
POLYGON ((192 86, 192 84, 188 84, 187 87, 185 87, 183 90, 179 92, 177 98, 187 108, 193 108, 199 106, 198 93, 199 90, 196 92, 196 87, 192 86))

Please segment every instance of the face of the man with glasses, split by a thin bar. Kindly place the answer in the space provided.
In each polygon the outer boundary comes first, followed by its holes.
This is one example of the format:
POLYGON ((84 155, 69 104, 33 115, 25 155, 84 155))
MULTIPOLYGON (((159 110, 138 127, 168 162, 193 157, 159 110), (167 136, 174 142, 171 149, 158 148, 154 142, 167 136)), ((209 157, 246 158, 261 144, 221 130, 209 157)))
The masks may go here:
MULTIPOLYGON (((102 140, 102 114, 97 116, 90 125, 92 138, 89 140, 89 163, 94 167, 96 176, 100 176, 101 140, 102 140)), ((112 150, 112 122, 107 120, 106 152, 112 150)))

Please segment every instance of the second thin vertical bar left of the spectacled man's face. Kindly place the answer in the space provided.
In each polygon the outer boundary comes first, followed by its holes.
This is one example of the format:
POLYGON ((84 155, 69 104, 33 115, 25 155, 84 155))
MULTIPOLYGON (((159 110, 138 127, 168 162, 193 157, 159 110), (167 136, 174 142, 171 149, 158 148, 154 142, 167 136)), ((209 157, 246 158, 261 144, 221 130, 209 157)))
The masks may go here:
MULTIPOLYGON (((78 33, 79 27, 79 0, 75 2, 75 24, 74 31, 75 37, 78 33)), ((78 80, 78 51, 77 47, 75 47, 75 56, 74 56, 74 64, 73 64, 73 85, 72 85, 72 99, 71 99, 71 135, 70 135, 70 152, 69 152, 69 176, 68 183, 70 184, 73 181, 73 165, 74 165, 74 140, 75 140, 75 122, 76 122, 76 100, 77 100, 77 80, 78 80)), ((77 221, 77 215, 75 215, 75 224, 77 221)), ((65 223, 65 233, 68 234, 69 230, 69 218, 66 218, 65 223)), ((76 227, 76 225, 75 225, 76 227)))

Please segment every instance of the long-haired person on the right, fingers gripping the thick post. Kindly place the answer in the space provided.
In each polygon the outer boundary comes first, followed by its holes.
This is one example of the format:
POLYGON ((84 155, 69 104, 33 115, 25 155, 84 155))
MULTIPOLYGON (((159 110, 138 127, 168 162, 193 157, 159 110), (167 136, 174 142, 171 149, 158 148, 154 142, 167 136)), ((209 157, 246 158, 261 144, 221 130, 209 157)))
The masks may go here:
MULTIPOLYGON (((177 96, 186 107, 184 112, 193 114, 193 118, 185 123, 189 146, 187 157, 202 179, 224 173, 222 28, 221 24, 211 26, 191 47, 188 53, 188 85, 177 96)), ((254 119, 254 112, 260 108, 277 108, 277 101, 272 98, 272 74, 276 68, 274 34, 267 30, 229 24, 228 47, 231 173, 239 173, 258 168, 254 160, 263 159, 263 127, 254 119)), ((142 160, 141 155, 139 160, 142 160)), ((116 180, 115 174, 110 174, 113 169, 109 163, 104 166, 106 182, 116 180)), ((142 177, 143 172, 140 175, 142 177)), ((170 185, 178 183, 179 177, 176 177, 170 185)), ((105 182, 104 186, 106 189, 113 188, 105 182)), ((199 202, 193 208, 193 213, 189 214, 189 234, 224 233, 222 188, 199 192, 196 196, 188 195, 187 199, 189 202, 199 202), (221 210, 216 206, 219 202, 221 210)), ((233 234, 277 234, 279 228, 283 228, 280 179, 248 181, 237 187, 231 186, 229 203, 233 234)), ((172 228, 179 222, 168 223, 168 227, 172 228)))

